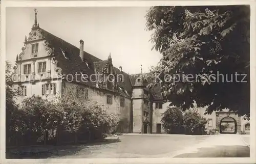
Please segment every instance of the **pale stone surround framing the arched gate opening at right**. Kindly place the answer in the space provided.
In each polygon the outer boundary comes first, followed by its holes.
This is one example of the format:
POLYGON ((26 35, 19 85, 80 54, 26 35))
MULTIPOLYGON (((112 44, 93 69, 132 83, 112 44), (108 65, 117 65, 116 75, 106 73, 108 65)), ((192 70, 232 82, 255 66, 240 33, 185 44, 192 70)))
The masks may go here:
POLYGON ((236 120, 236 129, 237 133, 241 133, 241 120, 240 117, 235 112, 216 112, 216 129, 218 132, 220 132, 220 124, 221 120, 225 117, 231 117, 234 120, 236 120))

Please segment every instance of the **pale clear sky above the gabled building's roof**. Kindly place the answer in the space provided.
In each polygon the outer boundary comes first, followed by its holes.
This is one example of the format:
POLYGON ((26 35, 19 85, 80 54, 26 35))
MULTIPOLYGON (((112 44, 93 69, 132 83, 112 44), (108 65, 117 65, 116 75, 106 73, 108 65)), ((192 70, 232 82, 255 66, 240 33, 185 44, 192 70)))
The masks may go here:
MULTIPOLYGON (((129 73, 148 72, 161 58, 146 31, 149 7, 41 7, 37 8, 40 28, 106 60, 111 52, 115 67, 129 73)), ((6 8, 6 60, 14 64, 25 35, 34 23, 34 8, 6 8)))

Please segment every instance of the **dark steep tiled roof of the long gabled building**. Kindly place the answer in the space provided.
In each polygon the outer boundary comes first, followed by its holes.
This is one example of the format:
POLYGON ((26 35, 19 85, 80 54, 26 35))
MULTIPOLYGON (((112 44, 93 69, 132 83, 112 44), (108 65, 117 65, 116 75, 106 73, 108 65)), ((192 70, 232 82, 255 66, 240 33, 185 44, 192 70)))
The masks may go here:
MULTIPOLYGON (((57 67, 62 69, 63 75, 72 74, 75 77, 77 73, 86 73, 88 76, 97 72, 102 71, 103 67, 107 64, 107 60, 101 60, 92 54, 84 51, 83 52, 83 61, 79 56, 79 48, 68 43, 67 41, 56 37, 55 35, 47 32, 44 29, 39 28, 44 35, 44 38, 49 42, 50 47, 54 50, 55 59, 57 62, 57 67)), ((113 66, 113 72, 116 74, 122 74, 124 79, 119 80, 118 90, 124 95, 132 95, 132 86, 135 85, 136 78, 141 74, 132 74, 129 75, 125 72, 121 72, 118 68, 113 66), (128 94, 127 94, 127 93, 128 94)), ((78 76, 78 78, 81 76, 78 76)), ((93 76, 94 77, 94 76, 93 76)), ((80 80, 80 79, 79 79, 80 80)), ((94 79, 93 79, 94 80, 94 79)), ((150 81, 148 81, 150 82, 150 81)), ((87 82, 79 81, 81 84, 86 84, 88 86, 96 87, 96 82, 88 80, 87 82)), ((160 86, 156 86, 151 89, 154 99, 162 99, 160 86)))

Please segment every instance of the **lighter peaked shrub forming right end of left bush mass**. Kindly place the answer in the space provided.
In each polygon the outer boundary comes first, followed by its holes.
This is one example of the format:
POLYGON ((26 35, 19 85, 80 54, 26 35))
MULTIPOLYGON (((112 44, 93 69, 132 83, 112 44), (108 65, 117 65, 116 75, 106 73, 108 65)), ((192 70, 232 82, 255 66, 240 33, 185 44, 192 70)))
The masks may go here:
POLYGON ((75 86, 67 86, 59 97, 56 108, 62 114, 61 126, 70 132, 90 130, 110 133, 118 123, 115 114, 108 113, 108 107, 90 99, 78 98, 75 86))

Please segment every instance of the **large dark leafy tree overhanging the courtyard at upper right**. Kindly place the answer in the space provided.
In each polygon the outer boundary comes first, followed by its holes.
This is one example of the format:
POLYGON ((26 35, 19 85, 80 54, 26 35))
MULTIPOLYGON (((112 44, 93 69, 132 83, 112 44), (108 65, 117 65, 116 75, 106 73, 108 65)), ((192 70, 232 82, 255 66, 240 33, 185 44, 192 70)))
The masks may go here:
POLYGON ((249 6, 155 6, 146 26, 162 54, 149 87, 160 84, 163 99, 184 111, 196 101, 207 114, 229 108, 249 117, 249 6))

